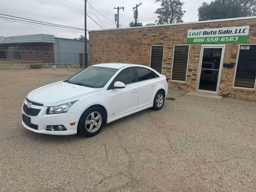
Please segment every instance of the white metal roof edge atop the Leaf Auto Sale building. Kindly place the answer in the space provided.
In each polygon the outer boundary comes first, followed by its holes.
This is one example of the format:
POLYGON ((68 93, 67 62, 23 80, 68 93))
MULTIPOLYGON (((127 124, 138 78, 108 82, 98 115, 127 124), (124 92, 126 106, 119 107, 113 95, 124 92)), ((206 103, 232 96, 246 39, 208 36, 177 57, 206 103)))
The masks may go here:
POLYGON ((161 26, 172 26, 172 25, 185 25, 185 24, 197 24, 197 23, 209 23, 209 22, 220 22, 220 21, 234 21, 234 20, 245 20, 245 19, 256 19, 256 16, 228 18, 228 19, 216 19, 216 20, 206 20, 206 21, 194 21, 194 22, 184 22, 184 23, 171 23, 171 24, 161 24, 161 25, 148 25, 148 26, 138 26, 138 27, 126 27, 126 28, 97 29, 97 30, 89 30, 89 32, 148 28, 148 27, 161 27, 161 26))

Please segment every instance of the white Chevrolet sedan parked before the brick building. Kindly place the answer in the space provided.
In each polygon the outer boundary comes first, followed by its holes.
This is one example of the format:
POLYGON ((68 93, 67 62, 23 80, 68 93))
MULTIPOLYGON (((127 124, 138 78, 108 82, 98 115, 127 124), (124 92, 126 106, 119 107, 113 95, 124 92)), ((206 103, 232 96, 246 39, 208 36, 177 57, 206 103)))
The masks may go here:
POLYGON ((160 110, 167 92, 166 76, 150 67, 96 64, 30 92, 22 124, 37 133, 90 137, 114 120, 150 107, 160 110))

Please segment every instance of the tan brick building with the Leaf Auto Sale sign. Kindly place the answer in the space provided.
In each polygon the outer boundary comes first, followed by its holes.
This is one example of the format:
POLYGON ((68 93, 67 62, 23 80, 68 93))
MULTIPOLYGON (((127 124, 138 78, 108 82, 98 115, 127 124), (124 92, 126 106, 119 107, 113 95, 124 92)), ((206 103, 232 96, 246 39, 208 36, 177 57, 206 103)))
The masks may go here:
POLYGON ((92 30, 90 64, 146 65, 174 89, 256 100, 256 17, 92 30))

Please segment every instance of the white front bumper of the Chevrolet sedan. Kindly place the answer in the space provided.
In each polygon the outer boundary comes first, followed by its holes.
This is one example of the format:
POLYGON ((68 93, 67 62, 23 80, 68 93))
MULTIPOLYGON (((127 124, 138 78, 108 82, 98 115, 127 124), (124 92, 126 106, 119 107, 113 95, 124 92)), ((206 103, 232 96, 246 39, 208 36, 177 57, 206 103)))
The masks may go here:
MULTIPOLYGON (((24 101, 26 102, 26 101, 24 101)), ((50 114, 46 115, 47 107, 43 106, 31 106, 31 108, 40 109, 40 112, 37 116, 27 115, 23 108, 22 114, 29 116, 31 123, 38 126, 38 129, 34 129, 22 121, 22 125, 33 132, 42 133, 42 134, 51 134, 51 135, 72 135, 77 133, 77 124, 79 120, 79 114, 76 113, 60 113, 60 114, 50 114), (76 122, 75 125, 71 126, 70 123, 76 122), (67 130, 65 131, 46 131, 47 125, 64 125, 67 130)))

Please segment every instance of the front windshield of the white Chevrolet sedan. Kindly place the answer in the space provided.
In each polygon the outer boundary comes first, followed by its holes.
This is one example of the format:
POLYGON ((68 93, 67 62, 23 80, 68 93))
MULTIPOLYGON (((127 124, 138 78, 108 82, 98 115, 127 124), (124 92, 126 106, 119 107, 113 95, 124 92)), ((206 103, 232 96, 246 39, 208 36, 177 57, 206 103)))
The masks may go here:
POLYGON ((64 82, 92 88, 102 88, 117 71, 118 69, 90 66, 64 82))

